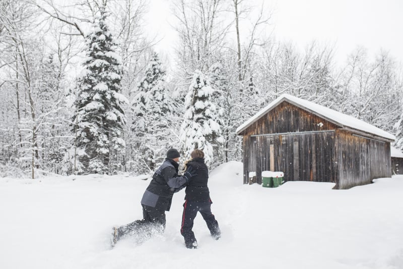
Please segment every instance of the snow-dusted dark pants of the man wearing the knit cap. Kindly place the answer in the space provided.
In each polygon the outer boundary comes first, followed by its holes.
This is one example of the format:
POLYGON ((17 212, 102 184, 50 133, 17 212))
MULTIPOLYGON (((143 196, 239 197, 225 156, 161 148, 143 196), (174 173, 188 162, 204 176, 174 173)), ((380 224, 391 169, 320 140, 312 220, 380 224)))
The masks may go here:
POLYGON ((156 233, 165 230, 165 210, 147 205, 143 206, 143 220, 137 220, 127 225, 120 226, 117 230, 118 239, 125 235, 132 236, 137 243, 143 243, 156 233))

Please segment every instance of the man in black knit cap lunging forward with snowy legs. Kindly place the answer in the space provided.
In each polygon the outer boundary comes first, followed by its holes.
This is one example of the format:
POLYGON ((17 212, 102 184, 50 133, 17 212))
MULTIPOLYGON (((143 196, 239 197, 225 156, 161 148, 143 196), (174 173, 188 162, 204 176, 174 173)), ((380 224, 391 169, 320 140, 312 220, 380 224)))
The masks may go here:
POLYGON ((169 211, 171 207, 173 193, 195 175, 191 168, 187 169, 183 176, 178 175, 180 154, 176 149, 169 149, 166 156, 164 163, 154 173, 150 185, 143 194, 141 200, 143 220, 114 227, 112 246, 126 234, 137 235, 137 239, 142 242, 156 231, 164 231, 165 211, 169 211))

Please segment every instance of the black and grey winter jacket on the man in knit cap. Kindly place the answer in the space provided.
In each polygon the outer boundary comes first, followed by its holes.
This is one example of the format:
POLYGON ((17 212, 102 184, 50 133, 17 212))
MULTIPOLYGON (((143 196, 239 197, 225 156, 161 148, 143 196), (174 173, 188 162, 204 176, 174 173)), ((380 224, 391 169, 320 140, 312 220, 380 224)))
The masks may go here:
POLYGON ((170 158, 157 169, 153 179, 143 194, 141 203, 157 210, 169 211, 174 190, 186 183, 186 178, 178 176, 179 165, 170 158))

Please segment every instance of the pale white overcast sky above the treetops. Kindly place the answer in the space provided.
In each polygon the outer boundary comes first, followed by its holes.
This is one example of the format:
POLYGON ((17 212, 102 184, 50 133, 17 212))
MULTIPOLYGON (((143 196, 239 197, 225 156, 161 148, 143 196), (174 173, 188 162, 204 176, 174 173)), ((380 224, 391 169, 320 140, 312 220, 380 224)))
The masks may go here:
MULTIPOLYGON (((301 50, 316 40, 335 45, 335 58, 343 63, 357 46, 373 57, 385 49, 403 62, 402 0, 263 0, 275 8, 272 23, 278 40, 293 41, 301 50)), ((175 41, 170 1, 150 1, 148 30, 163 40, 158 52, 172 52, 175 41)))

